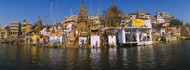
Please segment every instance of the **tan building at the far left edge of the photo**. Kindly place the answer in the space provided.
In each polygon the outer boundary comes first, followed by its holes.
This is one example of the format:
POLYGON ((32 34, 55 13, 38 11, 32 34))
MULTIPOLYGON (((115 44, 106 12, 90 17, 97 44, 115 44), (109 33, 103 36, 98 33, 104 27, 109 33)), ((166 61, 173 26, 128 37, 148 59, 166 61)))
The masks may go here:
POLYGON ((6 39, 8 37, 9 37, 9 27, 8 26, 1 26, 0 38, 6 39))

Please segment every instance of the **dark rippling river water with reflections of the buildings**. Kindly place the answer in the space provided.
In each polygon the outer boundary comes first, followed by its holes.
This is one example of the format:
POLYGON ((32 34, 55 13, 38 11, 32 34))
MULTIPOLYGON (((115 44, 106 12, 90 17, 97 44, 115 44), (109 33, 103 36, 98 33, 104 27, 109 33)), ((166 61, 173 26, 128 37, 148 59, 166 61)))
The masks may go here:
POLYGON ((64 49, 0 44, 0 70, 190 70, 190 41, 64 49))

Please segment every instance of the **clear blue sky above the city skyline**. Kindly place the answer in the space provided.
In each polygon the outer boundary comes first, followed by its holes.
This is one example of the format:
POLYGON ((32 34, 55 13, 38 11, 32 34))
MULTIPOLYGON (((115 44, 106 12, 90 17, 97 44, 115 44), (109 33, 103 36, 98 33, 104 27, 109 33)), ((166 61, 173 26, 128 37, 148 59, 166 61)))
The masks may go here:
MULTIPOLYGON (((142 12, 151 13, 153 17, 156 12, 170 12, 172 16, 190 22, 190 0, 113 0, 124 13, 129 14, 137 11, 138 4, 142 12)), ((82 0, 54 0, 53 11, 57 17, 56 21, 63 20, 65 16, 70 16, 80 9, 82 0)), ((111 0, 84 0, 88 14, 101 14, 102 10, 107 10, 111 0)), ((26 19, 29 23, 37 21, 41 17, 45 25, 47 15, 50 23, 50 0, 1 0, 0 2, 0 24, 9 25, 10 22, 21 22, 26 19)))

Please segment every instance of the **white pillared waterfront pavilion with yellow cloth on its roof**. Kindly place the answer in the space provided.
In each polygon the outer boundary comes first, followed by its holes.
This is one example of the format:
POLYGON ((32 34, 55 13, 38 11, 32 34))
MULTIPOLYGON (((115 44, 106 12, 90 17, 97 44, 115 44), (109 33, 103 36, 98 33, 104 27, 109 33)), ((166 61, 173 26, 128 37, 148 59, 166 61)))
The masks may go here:
POLYGON ((149 45, 152 44, 152 25, 150 20, 132 19, 118 31, 118 43, 124 44, 149 45), (136 23, 138 22, 138 23, 136 23))

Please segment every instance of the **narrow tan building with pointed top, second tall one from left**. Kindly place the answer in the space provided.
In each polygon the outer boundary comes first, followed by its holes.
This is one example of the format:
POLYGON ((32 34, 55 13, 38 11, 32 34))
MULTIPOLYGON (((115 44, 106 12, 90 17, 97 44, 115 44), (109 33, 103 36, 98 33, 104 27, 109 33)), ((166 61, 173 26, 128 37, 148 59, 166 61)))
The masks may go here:
POLYGON ((32 24, 27 23, 26 19, 24 19, 23 25, 22 25, 22 35, 26 35, 27 33, 29 33, 31 31, 31 27, 32 27, 32 24))

